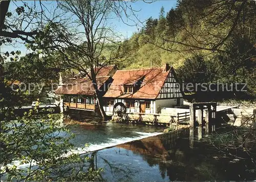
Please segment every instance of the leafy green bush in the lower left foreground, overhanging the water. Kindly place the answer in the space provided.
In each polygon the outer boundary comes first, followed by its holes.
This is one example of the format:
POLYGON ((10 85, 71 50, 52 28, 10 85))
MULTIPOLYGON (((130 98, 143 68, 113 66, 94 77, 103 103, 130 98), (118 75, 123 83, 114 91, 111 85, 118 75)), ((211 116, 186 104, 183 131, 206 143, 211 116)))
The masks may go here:
POLYGON ((6 180, 95 180, 98 171, 84 169, 88 157, 80 157, 70 140, 74 134, 63 126, 60 115, 37 115, 36 107, 10 120, 3 109, 1 121, 1 173, 6 180), (13 165, 9 165, 12 164, 13 165), (24 169, 19 165, 27 164, 24 169), (17 170, 18 169, 18 170, 17 170))

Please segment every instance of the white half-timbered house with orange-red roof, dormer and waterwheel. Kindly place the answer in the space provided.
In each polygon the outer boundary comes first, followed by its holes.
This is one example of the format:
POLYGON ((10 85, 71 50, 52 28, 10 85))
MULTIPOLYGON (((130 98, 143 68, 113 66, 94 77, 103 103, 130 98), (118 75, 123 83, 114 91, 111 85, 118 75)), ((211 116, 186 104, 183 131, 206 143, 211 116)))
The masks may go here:
POLYGON ((103 96, 104 110, 112 115, 117 105, 126 112, 159 113, 163 107, 183 105, 183 93, 172 66, 118 70, 103 96))

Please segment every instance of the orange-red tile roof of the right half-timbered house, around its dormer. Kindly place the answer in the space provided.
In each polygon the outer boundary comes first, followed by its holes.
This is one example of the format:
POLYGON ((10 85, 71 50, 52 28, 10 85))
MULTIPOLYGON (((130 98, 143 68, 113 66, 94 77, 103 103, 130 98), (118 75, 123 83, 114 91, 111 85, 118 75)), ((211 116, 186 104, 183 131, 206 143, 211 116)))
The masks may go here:
POLYGON ((162 67, 118 70, 113 76, 114 81, 104 97, 156 99, 170 70, 172 69, 165 72, 162 67), (136 92, 134 94, 123 93, 123 85, 136 83, 140 79, 142 79, 142 83, 138 90, 135 90, 136 92))

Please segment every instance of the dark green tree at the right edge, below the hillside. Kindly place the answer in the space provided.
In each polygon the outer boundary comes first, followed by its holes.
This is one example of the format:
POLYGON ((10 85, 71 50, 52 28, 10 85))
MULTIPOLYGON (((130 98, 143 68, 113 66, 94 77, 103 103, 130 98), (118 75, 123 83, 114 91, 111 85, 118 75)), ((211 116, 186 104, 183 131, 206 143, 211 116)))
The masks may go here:
POLYGON ((216 60, 219 81, 246 83, 248 93, 255 95, 256 61, 251 58, 256 55, 256 49, 253 44, 247 38, 233 38, 226 50, 216 60))

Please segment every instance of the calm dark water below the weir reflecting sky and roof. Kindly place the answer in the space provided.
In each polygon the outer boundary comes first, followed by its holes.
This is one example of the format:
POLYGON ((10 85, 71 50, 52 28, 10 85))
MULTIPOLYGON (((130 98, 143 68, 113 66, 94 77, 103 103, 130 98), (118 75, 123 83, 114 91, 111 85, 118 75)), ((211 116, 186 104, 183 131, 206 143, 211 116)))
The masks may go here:
POLYGON ((245 164, 230 163, 204 139, 214 126, 201 126, 149 137, 94 153, 94 167, 106 181, 249 180, 245 164), (210 128, 210 131, 207 131, 210 128), (239 169, 240 175, 233 171, 239 169))

